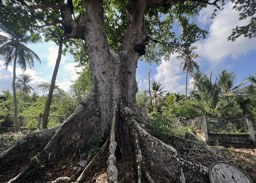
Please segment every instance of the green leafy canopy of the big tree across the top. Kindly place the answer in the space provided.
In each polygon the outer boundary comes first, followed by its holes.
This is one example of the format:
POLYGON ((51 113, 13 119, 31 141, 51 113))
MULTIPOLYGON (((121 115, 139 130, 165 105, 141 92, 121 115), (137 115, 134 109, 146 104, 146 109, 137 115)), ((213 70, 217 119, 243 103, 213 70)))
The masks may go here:
MULTIPOLYGON (((229 40, 235 40, 240 35, 245 37, 255 36, 255 5, 251 0, 231 0, 233 8, 240 11, 239 19, 251 18, 250 22, 244 26, 237 26, 233 29, 229 40)), ((104 23, 107 41, 113 50, 120 49, 127 24, 131 21, 130 14, 132 8, 136 11, 143 11, 142 31, 148 43, 146 51, 140 59, 147 62, 158 62, 161 56, 168 58, 170 54, 182 47, 189 47, 191 44, 205 38, 207 31, 200 28, 193 18, 199 14, 202 8, 212 5, 216 11, 224 8, 225 0, 148 0, 145 7, 133 7, 132 0, 104 0, 102 2, 103 11, 100 16, 104 23), (143 10, 144 9, 144 10, 143 10), (176 30, 178 25, 180 29, 176 30)), ((2 0, 0 13, 5 14, 0 20, 1 30, 22 27, 30 30, 31 36, 38 38, 41 28, 45 40, 58 42, 58 36, 65 34, 65 37, 84 39, 81 29, 84 20, 89 17, 85 15, 85 8, 82 0, 2 0), (20 16, 17 16, 20 14, 20 16), (54 26, 49 28, 49 26, 54 26), (37 36, 35 36, 37 35, 37 36)), ((70 40, 66 43, 70 52, 76 53, 75 57, 79 61, 88 59, 86 55, 87 45, 79 41, 70 40), (74 45, 76 44, 76 45, 74 45), (69 46, 68 46, 69 45, 69 46), (80 45, 77 47, 77 45, 80 45), (82 51, 79 49, 82 48, 82 51), (85 50, 85 55, 84 51, 85 50), (80 58, 79 58, 80 57, 80 58)))

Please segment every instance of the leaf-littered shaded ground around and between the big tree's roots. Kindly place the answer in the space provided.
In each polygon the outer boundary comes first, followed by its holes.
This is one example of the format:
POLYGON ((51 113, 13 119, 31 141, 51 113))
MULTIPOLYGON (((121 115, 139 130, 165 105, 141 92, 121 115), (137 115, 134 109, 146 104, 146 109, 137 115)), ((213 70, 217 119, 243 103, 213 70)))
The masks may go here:
MULTIPOLYGON (((19 133, 2 133, 0 134, 0 152, 10 147, 14 142, 21 137, 25 136, 28 131, 23 131, 19 133)), ((182 144, 176 144, 178 146, 182 146, 182 144)), ((256 183, 256 148, 253 147, 243 147, 243 148, 235 148, 233 146, 224 147, 220 145, 210 146, 217 153, 221 154, 223 160, 231 161, 231 163, 238 166, 240 169, 245 171, 253 182, 256 183)), ((210 159, 208 153, 200 153, 203 149, 200 149, 199 146, 194 146, 193 148, 187 149, 185 151, 179 151, 181 157, 190 158, 191 162, 198 162, 204 165, 208 165, 212 163, 211 161, 216 161, 214 157, 210 159), (208 159, 208 162, 206 161, 208 159)), ((101 154, 101 158, 94 164, 92 170, 88 173, 87 179, 83 182, 85 183, 106 183, 106 151, 101 154)), ((40 162, 38 159, 38 170, 36 174, 33 176, 34 178, 30 178, 27 182, 47 182, 50 180, 54 180, 57 177, 62 176, 71 176, 76 172, 79 167, 78 162, 81 159, 86 159, 82 157, 83 154, 88 154, 81 152, 77 156, 66 156, 61 160, 52 162, 48 167, 44 167, 43 162, 40 162)), ((219 160, 219 159, 218 159, 219 160)), ((19 164, 19 166, 24 166, 25 164, 19 164)), ((146 165, 146 164, 145 164, 146 165)), ((134 167, 134 160, 132 155, 130 154, 122 154, 121 158, 117 158, 117 168, 118 168, 118 182, 121 183, 135 183, 136 182, 136 170, 134 167)), ((4 174, 0 174, 0 182, 6 182, 13 177, 12 174, 17 173, 17 169, 20 170, 20 167, 13 167, 4 174)), ((151 172, 153 175, 153 172, 151 172)), ((160 176, 155 175, 154 179, 160 181, 160 176)), ((143 182, 146 182, 143 180, 143 182)))

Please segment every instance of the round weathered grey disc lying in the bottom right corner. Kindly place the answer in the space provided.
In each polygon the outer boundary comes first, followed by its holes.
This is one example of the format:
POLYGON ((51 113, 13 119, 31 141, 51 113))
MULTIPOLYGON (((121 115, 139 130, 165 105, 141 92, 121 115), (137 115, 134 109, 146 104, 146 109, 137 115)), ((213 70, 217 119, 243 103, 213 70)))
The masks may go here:
POLYGON ((240 168, 225 161, 217 161, 210 165, 209 180, 211 183, 252 183, 240 168))

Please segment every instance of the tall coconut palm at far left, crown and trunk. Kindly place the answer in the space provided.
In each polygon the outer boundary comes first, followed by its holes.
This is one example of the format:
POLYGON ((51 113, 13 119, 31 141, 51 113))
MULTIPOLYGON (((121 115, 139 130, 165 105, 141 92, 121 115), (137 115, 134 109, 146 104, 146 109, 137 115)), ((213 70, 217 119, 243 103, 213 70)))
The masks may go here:
POLYGON ((30 68, 34 66, 34 59, 40 62, 40 58, 31 49, 25 46, 27 43, 31 43, 31 36, 26 33, 18 31, 6 31, 7 35, 0 35, 0 56, 3 57, 4 65, 7 67, 13 63, 13 78, 12 78, 12 94, 14 103, 14 128, 17 132, 19 124, 17 120, 17 99, 16 99, 16 64, 21 67, 22 70, 26 69, 28 65, 30 68))

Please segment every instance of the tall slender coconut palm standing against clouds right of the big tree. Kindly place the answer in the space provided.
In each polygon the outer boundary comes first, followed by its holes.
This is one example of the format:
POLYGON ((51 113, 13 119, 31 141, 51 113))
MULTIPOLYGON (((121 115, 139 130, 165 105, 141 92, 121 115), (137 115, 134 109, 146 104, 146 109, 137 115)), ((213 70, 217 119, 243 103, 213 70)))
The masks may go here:
POLYGON ((176 59, 183 60, 180 67, 182 67, 182 74, 186 73, 185 99, 187 99, 187 74, 191 75, 194 72, 194 69, 199 70, 199 65, 193 60, 193 58, 198 58, 200 56, 193 52, 194 49, 197 49, 197 47, 191 46, 184 49, 180 55, 176 56, 176 59))

